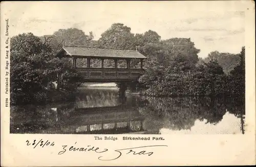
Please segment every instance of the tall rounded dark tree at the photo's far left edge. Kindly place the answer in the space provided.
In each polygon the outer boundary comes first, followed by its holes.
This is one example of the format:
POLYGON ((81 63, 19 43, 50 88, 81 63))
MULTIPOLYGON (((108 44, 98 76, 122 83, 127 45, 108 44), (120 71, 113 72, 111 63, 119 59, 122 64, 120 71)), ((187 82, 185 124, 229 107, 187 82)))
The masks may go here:
POLYGON ((52 76, 48 62, 53 59, 51 48, 32 33, 11 38, 11 91, 39 91, 46 88, 52 76))

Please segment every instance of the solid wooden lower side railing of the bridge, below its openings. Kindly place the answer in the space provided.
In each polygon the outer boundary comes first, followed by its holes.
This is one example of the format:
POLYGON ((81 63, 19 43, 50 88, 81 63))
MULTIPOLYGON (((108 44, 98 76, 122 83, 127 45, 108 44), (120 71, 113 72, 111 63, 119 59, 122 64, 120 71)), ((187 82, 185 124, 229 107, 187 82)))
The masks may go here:
POLYGON ((144 69, 122 68, 76 68, 84 77, 91 80, 137 80, 144 69))

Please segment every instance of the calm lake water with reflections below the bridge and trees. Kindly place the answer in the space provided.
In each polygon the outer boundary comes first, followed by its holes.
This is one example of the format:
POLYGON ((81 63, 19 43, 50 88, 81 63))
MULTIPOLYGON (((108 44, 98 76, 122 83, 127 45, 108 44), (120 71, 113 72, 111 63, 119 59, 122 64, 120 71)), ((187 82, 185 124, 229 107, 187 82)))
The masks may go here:
POLYGON ((11 133, 245 133, 242 99, 126 95, 117 88, 79 88, 75 102, 11 106, 11 133))

